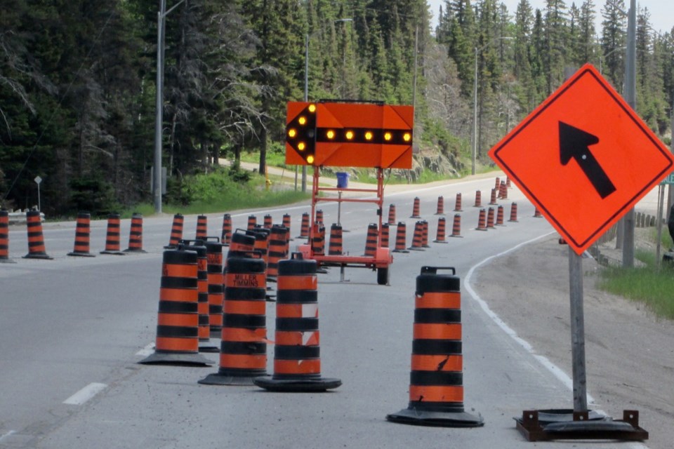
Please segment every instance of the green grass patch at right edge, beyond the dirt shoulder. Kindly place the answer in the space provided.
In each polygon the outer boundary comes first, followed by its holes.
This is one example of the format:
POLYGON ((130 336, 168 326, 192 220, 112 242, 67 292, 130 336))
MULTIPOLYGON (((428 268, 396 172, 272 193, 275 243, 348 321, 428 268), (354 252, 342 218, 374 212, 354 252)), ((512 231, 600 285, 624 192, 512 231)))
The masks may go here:
MULTIPOLYGON (((649 234, 651 243, 656 242, 656 233, 649 234)), ((663 232, 663 250, 671 243, 663 232)), ((621 295, 629 300, 646 304, 657 316, 674 319, 674 264, 663 262, 657 266, 654 250, 638 249, 635 258, 642 262, 640 267, 606 267, 601 271, 599 288, 609 293, 621 295)))

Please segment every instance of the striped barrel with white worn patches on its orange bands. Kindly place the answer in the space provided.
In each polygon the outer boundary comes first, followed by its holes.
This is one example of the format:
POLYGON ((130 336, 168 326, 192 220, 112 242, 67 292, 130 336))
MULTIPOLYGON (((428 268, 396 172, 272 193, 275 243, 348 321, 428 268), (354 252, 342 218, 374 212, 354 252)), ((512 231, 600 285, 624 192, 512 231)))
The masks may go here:
POLYGON ((274 375, 253 383, 269 391, 326 391, 342 384, 321 377, 316 261, 300 253, 279 262, 274 375))

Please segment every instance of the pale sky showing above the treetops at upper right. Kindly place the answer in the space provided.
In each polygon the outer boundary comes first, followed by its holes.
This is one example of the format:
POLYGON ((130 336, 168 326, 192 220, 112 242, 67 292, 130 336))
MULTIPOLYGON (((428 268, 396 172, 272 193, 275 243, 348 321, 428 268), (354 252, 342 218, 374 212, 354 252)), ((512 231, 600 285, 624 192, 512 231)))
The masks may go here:
MULTIPOLYGON (((430 12, 433 14, 432 20, 432 29, 435 29, 437 25, 437 13, 440 9, 440 5, 444 8, 444 0, 426 0, 430 5, 430 12)), ((505 6, 508 7, 508 13, 515 15, 517 11, 517 4, 520 3, 519 0, 501 0, 505 6)), ((624 0, 626 8, 629 8, 630 0, 624 0)), ((567 8, 571 4, 575 3, 576 6, 580 6, 583 3, 583 0, 564 0, 564 4, 567 5, 567 8)), ((601 23, 601 9, 603 8, 606 2, 604 0, 595 0, 597 20, 601 23)), ((531 8, 536 8, 543 10, 546 6, 546 0, 529 0, 531 8)), ((654 29, 657 29, 661 32, 668 32, 674 27, 674 0, 637 0, 637 9, 639 8, 648 8, 649 13, 651 13, 651 25, 654 29)), ((597 25, 597 33, 601 32, 601 28, 597 25)))

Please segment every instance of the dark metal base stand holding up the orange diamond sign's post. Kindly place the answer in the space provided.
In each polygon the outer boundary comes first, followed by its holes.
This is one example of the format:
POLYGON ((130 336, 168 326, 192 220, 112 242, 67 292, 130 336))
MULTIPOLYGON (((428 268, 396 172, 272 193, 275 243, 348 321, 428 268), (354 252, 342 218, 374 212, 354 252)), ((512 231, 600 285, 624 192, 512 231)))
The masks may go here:
POLYGON ((515 421, 517 430, 527 441, 648 439, 648 432, 639 427, 637 410, 623 410, 622 420, 613 420, 592 410, 524 410, 522 417, 515 421))

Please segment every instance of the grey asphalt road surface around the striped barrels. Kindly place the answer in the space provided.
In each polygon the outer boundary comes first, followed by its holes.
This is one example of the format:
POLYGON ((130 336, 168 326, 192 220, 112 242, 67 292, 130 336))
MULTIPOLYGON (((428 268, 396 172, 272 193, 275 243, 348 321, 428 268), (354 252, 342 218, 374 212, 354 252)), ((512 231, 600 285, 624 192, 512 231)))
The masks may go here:
MULTIPOLYGON (((385 204, 395 203, 397 220, 407 222, 408 244, 415 196, 421 198, 421 215, 430 223, 432 240, 437 196, 445 199, 449 235, 455 194, 461 192, 462 238, 395 254, 390 286, 378 286, 376 274, 368 269, 346 269, 344 282, 336 268, 319 275, 322 373, 343 381, 338 389, 320 394, 198 384, 218 370, 218 354, 206 354, 214 363, 207 368, 137 363, 152 352, 161 254, 169 241, 171 216, 145 218, 147 253, 125 256, 98 254, 105 244, 106 223, 92 222, 96 257, 67 256, 74 223, 59 223, 44 226, 47 253, 54 260, 23 259, 25 228, 11 227, 10 255, 16 263, 0 264, 0 447, 507 449, 532 444, 515 430, 513 417, 531 408, 571 407, 568 382, 508 336, 463 284, 465 408, 482 415, 484 427, 415 427, 385 420, 407 408, 415 279, 421 267, 455 267, 463 281, 487 257, 552 232, 545 220, 533 217, 533 207, 515 189, 509 191, 511 200, 498 203, 508 213, 510 201, 516 200, 519 222, 476 231, 475 191, 482 191, 487 206, 493 186, 493 177, 483 177, 387 189, 385 204)), ((337 206, 324 203, 321 208, 329 227, 336 221, 337 206)), ((244 210, 232 212, 232 217, 236 228, 245 227, 251 213, 258 222, 265 213, 275 222, 289 213, 296 236, 301 214, 308 209, 303 204, 244 210)), ((221 220, 222 215, 209 215, 209 234, 220 234, 221 220)), ((186 238, 194 236, 196 221, 195 216, 185 217, 186 238)), ((345 250, 362 254, 367 225, 375 221, 369 204, 343 206, 345 250)), ((123 220, 122 248, 128 230, 129 222, 123 220)), ((393 232, 390 241, 392 246, 393 232)), ((522 273, 523 283, 526 276, 522 273)), ((267 304, 267 335, 272 337, 275 307, 267 304)), ((560 344, 570 348, 570 342, 560 344)), ((267 354, 272 373, 271 345, 267 354)))

